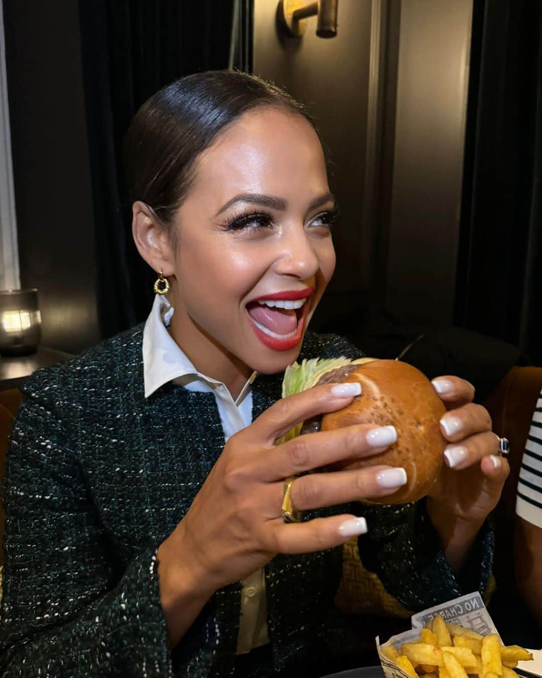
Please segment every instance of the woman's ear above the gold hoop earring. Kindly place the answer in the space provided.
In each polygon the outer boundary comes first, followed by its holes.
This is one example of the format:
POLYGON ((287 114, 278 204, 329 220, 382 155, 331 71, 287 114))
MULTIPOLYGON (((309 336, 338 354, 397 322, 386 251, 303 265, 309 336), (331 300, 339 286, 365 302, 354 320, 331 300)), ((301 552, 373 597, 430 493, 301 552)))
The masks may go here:
POLYGON ((167 231, 148 205, 140 200, 133 203, 131 233, 138 252, 154 271, 167 277, 175 272, 175 252, 167 231))

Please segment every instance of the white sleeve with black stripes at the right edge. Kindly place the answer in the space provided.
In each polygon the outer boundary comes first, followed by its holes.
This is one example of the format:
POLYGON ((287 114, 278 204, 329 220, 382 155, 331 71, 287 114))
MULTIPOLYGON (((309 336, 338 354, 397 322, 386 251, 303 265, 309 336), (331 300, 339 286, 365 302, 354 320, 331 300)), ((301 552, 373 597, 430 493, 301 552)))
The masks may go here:
POLYGON ((516 513, 528 523, 542 527, 542 393, 535 407, 523 454, 516 513))

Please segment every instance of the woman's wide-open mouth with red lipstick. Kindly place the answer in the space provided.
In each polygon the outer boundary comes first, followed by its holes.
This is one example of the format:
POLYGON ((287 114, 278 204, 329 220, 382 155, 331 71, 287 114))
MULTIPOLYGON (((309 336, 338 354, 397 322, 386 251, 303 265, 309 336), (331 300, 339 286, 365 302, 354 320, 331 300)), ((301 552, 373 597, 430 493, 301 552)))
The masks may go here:
POLYGON ((258 299, 247 304, 257 337, 269 348, 287 351, 303 336, 308 296, 301 299, 258 299))

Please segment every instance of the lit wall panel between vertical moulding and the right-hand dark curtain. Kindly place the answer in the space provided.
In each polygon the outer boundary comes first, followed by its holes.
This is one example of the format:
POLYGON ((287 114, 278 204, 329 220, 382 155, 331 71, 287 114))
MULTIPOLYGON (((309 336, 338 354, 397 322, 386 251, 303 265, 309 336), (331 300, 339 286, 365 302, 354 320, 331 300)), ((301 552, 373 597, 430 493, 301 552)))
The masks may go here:
POLYGON ((472 5, 400 3, 385 305, 409 323, 453 322, 472 5))

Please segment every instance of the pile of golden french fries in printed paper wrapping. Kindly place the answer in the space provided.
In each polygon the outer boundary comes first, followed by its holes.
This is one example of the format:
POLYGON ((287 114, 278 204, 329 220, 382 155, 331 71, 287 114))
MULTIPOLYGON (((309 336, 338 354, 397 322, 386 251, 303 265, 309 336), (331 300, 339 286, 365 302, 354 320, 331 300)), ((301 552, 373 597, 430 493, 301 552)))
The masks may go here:
POLYGON ((519 678, 518 661, 533 659, 519 645, 501 644, 496 633, 482 636, 437 614, 421 629, 420 636, 399 649, 381 648, 411 678, 519 678))

